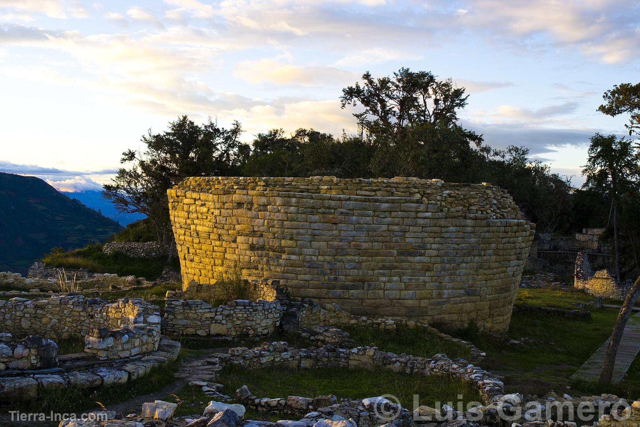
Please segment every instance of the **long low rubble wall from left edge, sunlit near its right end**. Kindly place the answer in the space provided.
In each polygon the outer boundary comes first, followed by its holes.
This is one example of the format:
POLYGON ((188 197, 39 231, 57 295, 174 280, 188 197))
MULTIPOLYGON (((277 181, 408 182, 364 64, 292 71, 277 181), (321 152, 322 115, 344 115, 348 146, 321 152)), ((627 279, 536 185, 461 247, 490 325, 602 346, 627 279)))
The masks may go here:
POLYGON ((143 323, 159 331, 159 311, 140 298, 103 301, 76 294, 34 300, 12 298, 0 300, 0 331, 15 336, 65 337, 86 335, 92 328, 118 329, 143 323))

